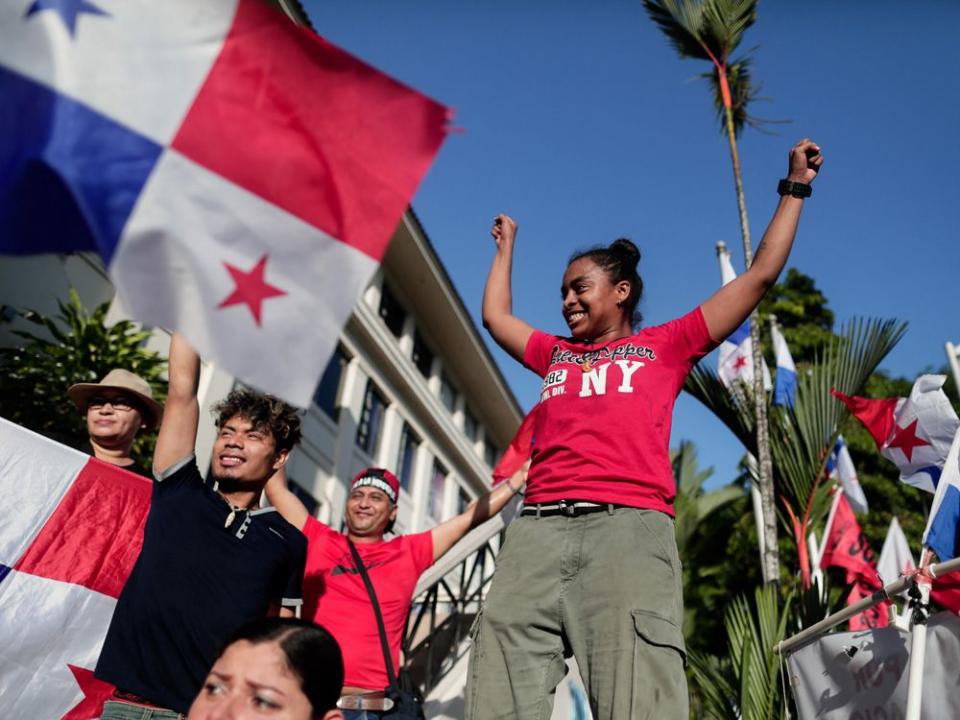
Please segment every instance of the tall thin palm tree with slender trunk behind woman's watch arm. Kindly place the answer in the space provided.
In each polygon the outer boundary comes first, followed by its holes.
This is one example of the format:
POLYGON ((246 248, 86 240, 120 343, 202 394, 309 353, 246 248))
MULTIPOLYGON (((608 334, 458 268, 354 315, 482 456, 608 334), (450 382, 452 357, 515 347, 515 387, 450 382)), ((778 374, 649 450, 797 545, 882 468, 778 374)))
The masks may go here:
MULTIPOLYGON (((749 268, 753 263, 750 223, 740 172, 737 136, 746 124, 757 121, 747 113, 747 105, 756 96, 751 84, 749 58, 733 59, 743 33, 756 19, 757 0, 643 0, 653 21, 667 36, 682 58, 706 60, 713 70, 705 73, 714 90, 714 103, 721 127, 730 144, 733 179, 740 211, 740 232, 743 256, 749 268)), ((753 367, 760 368, 760 321, 754 310, 750 315, 750 337, 753 341, 753 367)), ((763 512, 763 579, 777 582, 780 577, 777 551, 777 522, 773 490, 773 463, 767 429, 766 393, 763 375, 753 374, 753 403, 756 418, 756 457, 759 463, 759 485, 763 512)))

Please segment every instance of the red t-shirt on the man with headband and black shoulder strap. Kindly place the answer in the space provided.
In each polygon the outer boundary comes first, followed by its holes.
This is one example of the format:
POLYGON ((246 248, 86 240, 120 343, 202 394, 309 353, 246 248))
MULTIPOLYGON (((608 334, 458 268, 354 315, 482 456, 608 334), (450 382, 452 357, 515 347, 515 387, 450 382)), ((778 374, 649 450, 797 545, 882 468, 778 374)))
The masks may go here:
MULTIPOLYGON (((344 685, 385 688, 387 669, 377 617, 346 536, 309 516, 303 534, 307 536, 304 617, 323 625, 340 644, 344 685)), ((357 550, 377 593, 396 671, 413 589, 433 563, 433 535, 427 531, 400 535, 389 542, 358 543, 357 550)))

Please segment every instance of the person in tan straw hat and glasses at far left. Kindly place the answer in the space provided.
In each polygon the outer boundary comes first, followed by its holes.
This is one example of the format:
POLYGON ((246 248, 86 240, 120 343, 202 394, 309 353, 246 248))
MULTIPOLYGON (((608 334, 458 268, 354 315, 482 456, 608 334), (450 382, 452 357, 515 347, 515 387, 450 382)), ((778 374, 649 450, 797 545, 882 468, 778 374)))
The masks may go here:
POLYGON ((146 380, 129 370, 115 368, 98 383, 71 385, 67 395, 87 419, 94 457, 152 477, 131 456, 137 434, 154 430, 163 415, 163 405, 153 399, 146 380))

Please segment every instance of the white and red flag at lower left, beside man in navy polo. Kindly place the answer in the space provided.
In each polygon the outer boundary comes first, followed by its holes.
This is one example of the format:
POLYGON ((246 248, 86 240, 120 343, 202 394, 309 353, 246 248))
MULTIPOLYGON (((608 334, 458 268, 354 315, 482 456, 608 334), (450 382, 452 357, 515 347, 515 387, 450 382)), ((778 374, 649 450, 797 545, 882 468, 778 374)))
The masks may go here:
POLYGON ((0 715, 89 720, 150 481, 0 419, 0 715))

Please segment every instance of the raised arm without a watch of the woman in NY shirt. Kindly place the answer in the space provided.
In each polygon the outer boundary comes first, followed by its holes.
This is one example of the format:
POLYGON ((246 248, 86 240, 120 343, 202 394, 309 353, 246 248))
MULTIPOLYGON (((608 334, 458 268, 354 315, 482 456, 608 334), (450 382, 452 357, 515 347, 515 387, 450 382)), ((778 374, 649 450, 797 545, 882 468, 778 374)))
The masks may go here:
POLYGON ((523 351, 533 328, 513 314, 510 274, 513 270, 517 224, 508 215, 497 215, 490 234, 497 243, 497 254, 493 256, 487 284, 483 289, 483 326, 500 347, 523 362, 523 351))

